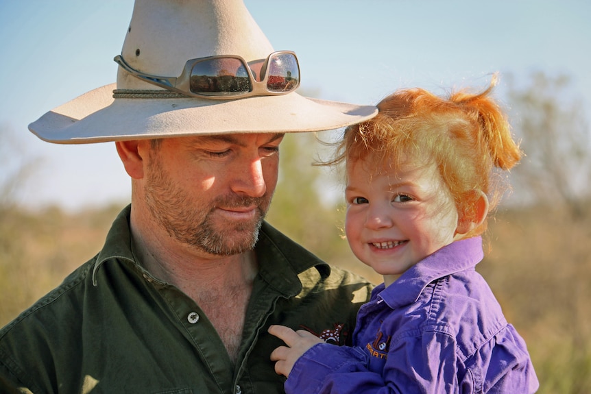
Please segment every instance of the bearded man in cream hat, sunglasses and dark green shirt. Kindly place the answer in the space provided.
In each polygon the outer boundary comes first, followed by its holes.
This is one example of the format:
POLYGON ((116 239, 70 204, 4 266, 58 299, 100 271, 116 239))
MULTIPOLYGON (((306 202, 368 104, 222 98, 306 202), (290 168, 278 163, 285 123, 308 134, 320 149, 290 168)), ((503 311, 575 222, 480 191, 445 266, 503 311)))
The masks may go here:
POLYGON ((263 221, 282 136, 376 110, 294 93, 295 54, 274 53, 241 0, 137 0, 115 60, 116 89, 29 129, 115 141, 132 204, 0 331, 0 392, 280 393, 269 325, 344 343, 371 290, 263 221))

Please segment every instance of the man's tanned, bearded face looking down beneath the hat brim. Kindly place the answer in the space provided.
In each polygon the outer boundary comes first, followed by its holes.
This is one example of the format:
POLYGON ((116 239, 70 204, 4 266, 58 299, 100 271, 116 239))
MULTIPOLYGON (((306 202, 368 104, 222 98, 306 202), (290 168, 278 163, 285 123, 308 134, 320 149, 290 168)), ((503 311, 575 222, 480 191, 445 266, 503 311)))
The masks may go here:
POLYGON ((169 236, 198 251, 248 251, 277 184, 282 134, 162 139, 145 171, 149 213, 169 236))

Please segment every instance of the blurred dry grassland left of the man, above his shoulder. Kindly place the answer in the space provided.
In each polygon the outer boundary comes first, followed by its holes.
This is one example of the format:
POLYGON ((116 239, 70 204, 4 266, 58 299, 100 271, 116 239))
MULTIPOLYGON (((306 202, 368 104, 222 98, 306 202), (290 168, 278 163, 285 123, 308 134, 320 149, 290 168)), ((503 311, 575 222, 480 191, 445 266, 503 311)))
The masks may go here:
POLYGON ((97 254, 121 208, 0 208, 0 326, 97 254))

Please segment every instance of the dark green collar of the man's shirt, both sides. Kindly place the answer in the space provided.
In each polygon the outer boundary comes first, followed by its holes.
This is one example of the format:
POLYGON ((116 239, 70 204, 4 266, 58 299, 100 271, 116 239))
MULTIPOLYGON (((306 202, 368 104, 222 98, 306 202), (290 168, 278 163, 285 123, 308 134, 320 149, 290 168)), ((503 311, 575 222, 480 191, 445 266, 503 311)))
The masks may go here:
MULTIPOLYGON (((144 271, 132 252, 130 213, 131 205, 119 213, 107 234, 105 245, 97 255, 93 267, 95 286, 97 285, 96 273, 108 260, 128 260, 139 267, 140 271, 144 271)), ((328 264, 267 222, 263 222, 254 251, 261 278, 286 296, 294 296, 302 291, 298 275, 312 267, 315 267, 322 277, 330 275, 328 264)))

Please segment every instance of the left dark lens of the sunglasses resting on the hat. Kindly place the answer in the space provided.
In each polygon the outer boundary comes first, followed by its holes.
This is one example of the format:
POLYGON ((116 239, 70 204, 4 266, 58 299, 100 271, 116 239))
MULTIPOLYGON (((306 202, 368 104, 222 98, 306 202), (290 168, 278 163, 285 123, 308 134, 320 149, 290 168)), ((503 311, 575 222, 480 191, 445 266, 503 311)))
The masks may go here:
POLYGON ((243 62, 234 58, 206 59, 191 69, 191 92, 200 95, 241 95, 252 86, 243 62))

